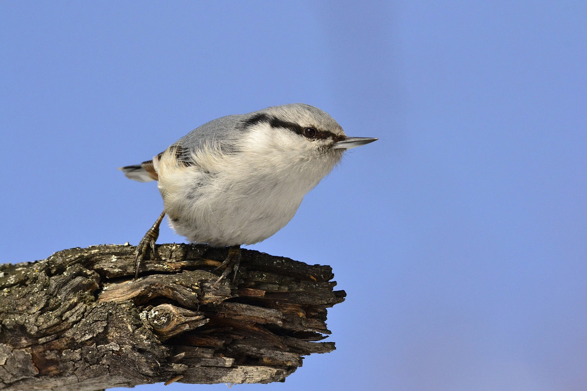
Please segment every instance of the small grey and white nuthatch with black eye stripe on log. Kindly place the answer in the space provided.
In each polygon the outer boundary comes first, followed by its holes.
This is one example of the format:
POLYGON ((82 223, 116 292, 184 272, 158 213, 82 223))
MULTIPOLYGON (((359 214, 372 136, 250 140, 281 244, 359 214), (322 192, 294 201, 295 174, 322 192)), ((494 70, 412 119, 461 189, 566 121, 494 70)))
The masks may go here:
POLYGON ((329 114, 305 103, 226 115, 201 125, 141 164, 120 167, 127 178, 157 181, 163 212, 141 239, 134 280, 159 226, 192 243, 229 247, 220 266, 236 278, 241 246, 261 242, 294 217, 303 197, 348 149, 376 141, 348 137, 329 114))

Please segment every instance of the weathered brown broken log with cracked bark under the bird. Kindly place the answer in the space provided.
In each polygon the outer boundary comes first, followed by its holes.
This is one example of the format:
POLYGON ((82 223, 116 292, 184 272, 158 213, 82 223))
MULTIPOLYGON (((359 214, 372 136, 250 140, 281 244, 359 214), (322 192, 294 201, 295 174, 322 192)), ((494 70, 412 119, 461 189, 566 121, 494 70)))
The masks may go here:
POLYGON ((0 265, 0 389, 102 390, 156 382, 282 382, 335 349, 329 266, 242 250, 237 281, 212 284, 226 249, 162 244, 132 281, 133 246, 0 265))

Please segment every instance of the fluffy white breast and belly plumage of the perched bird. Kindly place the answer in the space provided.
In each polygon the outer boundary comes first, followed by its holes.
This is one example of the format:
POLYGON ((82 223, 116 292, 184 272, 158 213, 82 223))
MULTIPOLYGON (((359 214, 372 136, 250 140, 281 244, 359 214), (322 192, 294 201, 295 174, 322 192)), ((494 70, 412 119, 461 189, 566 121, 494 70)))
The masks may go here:
POLYGON ((169 149, 158 162, 158 187, 170 225, 191 242, 233 246, 261 242, 284 227, 342 154, 316 154, 299 137, 259 124, 234 154, 210 146, 195 165, 169 149))

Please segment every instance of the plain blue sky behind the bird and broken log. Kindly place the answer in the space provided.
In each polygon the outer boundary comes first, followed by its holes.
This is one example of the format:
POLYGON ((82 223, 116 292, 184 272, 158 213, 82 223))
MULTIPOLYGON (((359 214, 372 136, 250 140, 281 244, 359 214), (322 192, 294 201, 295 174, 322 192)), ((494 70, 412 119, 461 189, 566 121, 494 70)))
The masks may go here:
MULTIPOLYGON (((379 138, 251 246, 333 266, 338 349, 283 384, 235 387, 587 388, 587 3, 0 11, 0 261, 138 243, 162 202, 118 166, 213 118, 301 101, 379 138)), ((158 243, 182 241, 161 229, 158 243)), ((226 386, 164 387, 199 388, 226 386)))

